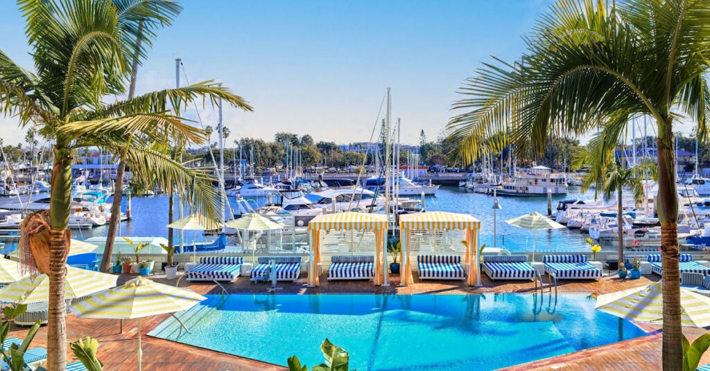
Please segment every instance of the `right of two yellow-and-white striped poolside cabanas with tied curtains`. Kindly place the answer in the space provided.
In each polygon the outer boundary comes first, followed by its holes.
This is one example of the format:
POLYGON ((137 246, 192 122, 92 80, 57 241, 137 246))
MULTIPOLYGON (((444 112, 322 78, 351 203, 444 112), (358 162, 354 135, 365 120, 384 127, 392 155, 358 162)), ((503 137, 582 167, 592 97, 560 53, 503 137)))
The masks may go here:
POLYGON ((417 214, 400 215, 400 233, 402 236, 402 249, 400 261, 403 265, 400 284, 413 284, 412 264, 410 251, 412 250, 412 231, 464 231, 466 234, 466 253, 464 263, 469 265, 469 277, 466 279, 469 286, 481 284, 479 270, 479 229, 481 222, 467 214, 447 213, 445 211, 430 211, 417 214))

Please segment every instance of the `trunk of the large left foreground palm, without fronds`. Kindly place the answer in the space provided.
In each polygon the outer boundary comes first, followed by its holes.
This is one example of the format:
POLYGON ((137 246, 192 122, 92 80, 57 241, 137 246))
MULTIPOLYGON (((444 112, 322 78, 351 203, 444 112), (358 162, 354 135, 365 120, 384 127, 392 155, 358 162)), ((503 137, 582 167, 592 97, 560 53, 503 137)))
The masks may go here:
POLYGON ((49 311, 47 323, 47 363, 49 371, 67 367, 67 304, 64 284, 67 276, 67 226, 72 202, 72 158, 61 140, 55 147, 50 196, 49 311))

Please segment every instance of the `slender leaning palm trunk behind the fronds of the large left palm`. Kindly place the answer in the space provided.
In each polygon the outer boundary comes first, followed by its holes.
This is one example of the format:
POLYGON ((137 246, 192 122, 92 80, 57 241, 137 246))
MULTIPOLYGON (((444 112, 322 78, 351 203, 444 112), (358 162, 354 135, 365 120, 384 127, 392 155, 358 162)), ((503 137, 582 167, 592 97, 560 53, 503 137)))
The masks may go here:
MULTIPOLYGON (((138 23, 138 40, 136 40, 136 52, 133 53, 133 65, 131 66, 131 85, 129 86, 129 99, 136 94, 136 77, 138 76, 138 57, 141 49, 141 34, 143 33, 143 21, 138 23)), ((126 174, 126 155, 119 160, 119 167, 116 169, 116 183, 114 184, 114 202, 111 204, 111 220, 109 221, 109 231, 104 245, 104 255, 101 258, 101 271, 109 272, 111 269, 111 256, 114 255, 114 240, 116 239, 116 229, 121 223, 121 201, 124 199, 124 175, 126 174)))

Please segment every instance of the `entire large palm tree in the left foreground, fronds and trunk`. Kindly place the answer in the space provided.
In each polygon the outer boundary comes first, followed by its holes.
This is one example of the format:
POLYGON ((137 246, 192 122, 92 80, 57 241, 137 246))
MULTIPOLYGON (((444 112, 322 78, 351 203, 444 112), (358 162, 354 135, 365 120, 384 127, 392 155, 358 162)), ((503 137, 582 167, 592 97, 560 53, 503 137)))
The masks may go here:
POLYGON ((55 143, 49 231, 42 247, 48 251, 50 279, 48 366, 58 371, 65 370, 67 354, 64 282, 72 153, 96 146, 112 153, 125 151, 135 179, 162 189, 174 187, 193 209, 217 220, 220 206, 219 194, 212 187, 214 179, 151 150, 147 143, 203 143, 206 139, 204 131, 168 114, 170 108, 185 107, 197 99, 213 105, 222 99, 242 109, 251 107, 212 82, 104 104, 107 94, 124 94, 129 60, 136 48, 141 50, 131 23, 121 23, 119 6, 109 0, 20 0, 18 5, 26 19, 35 72, 0 51, 0 113, 16 116, 23 126, 34 123, 41 135, 55 143))

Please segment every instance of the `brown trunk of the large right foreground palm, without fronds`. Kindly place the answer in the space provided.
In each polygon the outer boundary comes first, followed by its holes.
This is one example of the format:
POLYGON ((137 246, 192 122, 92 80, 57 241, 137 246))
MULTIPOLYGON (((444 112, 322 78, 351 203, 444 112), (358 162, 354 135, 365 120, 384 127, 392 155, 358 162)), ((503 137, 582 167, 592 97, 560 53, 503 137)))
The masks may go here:
POLYGON ((678 193, 675 186, 675 152, 672 118, 658 123, 658 196, 656 209, 661 223, 663 282, 664 371, 683 369, 680 310, 680 273, 678 267, 678 193))

